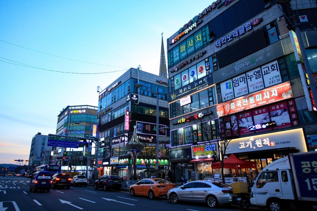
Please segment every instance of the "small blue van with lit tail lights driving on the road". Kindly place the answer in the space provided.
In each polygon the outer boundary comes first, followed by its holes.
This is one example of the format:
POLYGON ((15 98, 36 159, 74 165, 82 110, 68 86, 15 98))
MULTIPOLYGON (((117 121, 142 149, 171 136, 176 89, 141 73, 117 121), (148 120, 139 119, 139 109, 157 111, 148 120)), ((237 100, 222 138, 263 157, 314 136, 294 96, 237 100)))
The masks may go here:
POLYGON ((51 189, 52 177, 49 171, 37 171, 33 174, 30 181, 30 191, 35 193, 37 190, 46 190, 49 192, 51 189))

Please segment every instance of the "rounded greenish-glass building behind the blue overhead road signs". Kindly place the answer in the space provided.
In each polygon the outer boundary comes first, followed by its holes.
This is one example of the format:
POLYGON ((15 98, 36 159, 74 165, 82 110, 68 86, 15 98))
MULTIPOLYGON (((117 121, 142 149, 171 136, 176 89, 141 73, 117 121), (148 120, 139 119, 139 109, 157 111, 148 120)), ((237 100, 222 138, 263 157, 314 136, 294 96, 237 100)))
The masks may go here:
MULTIPOLYGON (((83 138, 95 136, 93 128, 94 125, 95 128, 97 126, 97 110, 98 108, 93 105, 68 105, 57 116, 56 134, 83 138)), ((93 160, 95 145, 89 145, 89 157, 93 160)), ((88 142, 85 139, 80 140, 78 148, 52 146, 53 163, 61 165, 62 171, 86 171, 87 147, 88 142)), ((88 169, 92 170, 92 166, 93 164, 89 163, 88 169)))

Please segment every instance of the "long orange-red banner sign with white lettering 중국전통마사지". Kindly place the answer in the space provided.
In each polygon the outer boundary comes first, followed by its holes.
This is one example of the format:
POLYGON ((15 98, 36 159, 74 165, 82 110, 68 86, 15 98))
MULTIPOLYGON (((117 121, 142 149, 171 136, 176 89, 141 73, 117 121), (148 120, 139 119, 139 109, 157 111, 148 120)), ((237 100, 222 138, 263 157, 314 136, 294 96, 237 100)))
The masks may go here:
POLYGON ((217 117, 233 114, 293 97, 290 82, 275 85, 217 105, 217 117), (226 109, 226 111, 224 110, 226 109))

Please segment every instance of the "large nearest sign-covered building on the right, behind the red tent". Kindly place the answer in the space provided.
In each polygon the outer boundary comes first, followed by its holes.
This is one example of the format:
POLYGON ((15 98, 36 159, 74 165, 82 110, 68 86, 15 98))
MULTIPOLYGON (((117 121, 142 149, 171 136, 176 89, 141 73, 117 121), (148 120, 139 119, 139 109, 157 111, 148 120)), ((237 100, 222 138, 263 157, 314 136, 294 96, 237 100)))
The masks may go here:
POLYGON ((219 173, 210 164, 221 125, 236 134, 226 155, 257 162, 256 169, 226 174, 246 171, 254 177, 275 159, 316 149, 316 112, 307 110, 308 89, 289 33, 294 21, 284 16, 298 12, 297 37, 304 40, 315 77, 316 8, 316 2, 305 0, 284 5, 217 0, 202 5, 202 12, 167 39, 170 162, 176 182, 219 173))

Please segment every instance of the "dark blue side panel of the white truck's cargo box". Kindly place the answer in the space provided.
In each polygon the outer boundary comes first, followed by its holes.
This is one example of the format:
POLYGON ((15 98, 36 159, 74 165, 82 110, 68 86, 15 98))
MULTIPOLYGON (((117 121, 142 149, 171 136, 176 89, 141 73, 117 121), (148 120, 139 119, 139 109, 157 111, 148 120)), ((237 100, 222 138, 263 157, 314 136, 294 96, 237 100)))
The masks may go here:
POLYGON ((317 153, 306 152, 294 153, 290 155, 290 161, 293 168, 294 182, 297 183, 296 193, 298 199, 316 200, 316 182, 317 182, 317 153))

